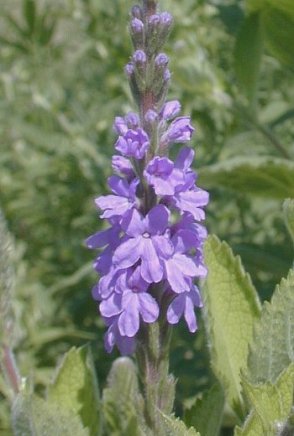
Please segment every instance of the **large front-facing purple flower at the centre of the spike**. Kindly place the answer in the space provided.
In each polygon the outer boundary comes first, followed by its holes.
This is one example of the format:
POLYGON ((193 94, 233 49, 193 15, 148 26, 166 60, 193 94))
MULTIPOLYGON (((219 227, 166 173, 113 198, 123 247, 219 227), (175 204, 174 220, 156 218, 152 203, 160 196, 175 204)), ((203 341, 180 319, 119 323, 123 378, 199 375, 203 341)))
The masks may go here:
POLYGON ((172 244, 166 234, 169 211, 155 206, 143 218, 133 209, 123 220, 122 228, 129 237, 114 252, 113 263, 125 269, 141 260, 141 275, 148 283, 158 283, 163 277, 162 259, 171 256, 172 244))

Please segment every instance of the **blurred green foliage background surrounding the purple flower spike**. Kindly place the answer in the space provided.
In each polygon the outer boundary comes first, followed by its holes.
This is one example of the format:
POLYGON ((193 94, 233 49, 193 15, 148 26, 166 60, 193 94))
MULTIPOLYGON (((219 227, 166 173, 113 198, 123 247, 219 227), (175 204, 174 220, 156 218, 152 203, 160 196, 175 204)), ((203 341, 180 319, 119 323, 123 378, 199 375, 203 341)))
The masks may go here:
MULTIPOLYGON (((90 294, 85 238, 98 230, 113 118, 135 110, 123 66, 131 0, 0 0, 0 207, 15 240, 13 346, 42 392, 71 345, 92 343, 101 386, 115 353, 90 294)), ((262 299, 293 261, 281 204, 294 197, 294 2, 162 1, 175 25, 172 83, 196 126, 207 226, 240 254, 262 299)), ((182 403, 212 383, 199 314, 176 329, 182 403)), ((9 433, 0 374, 0 433, 9 433)))

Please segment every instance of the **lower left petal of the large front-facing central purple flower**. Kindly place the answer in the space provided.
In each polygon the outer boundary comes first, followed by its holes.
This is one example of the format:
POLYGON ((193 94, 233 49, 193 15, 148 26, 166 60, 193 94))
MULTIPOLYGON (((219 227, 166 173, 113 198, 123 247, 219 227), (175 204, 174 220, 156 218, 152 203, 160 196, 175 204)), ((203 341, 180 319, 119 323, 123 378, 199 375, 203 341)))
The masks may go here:
POLYGON ((141 257, 141 236, 128 239, 117 247, 113 254, 113 263, 118 268, 129 268, 141 257))

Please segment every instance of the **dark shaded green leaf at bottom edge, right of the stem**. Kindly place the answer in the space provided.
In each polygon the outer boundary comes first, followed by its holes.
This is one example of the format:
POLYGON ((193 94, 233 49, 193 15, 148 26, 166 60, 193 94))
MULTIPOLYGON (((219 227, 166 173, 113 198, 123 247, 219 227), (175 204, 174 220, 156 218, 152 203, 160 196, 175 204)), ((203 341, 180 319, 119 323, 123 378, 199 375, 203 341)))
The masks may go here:
POLYGON ((197 428, 202 436, 219 434, 224 402, 223 389, 217 383, 202 398, 196 398, 193 406, 185 411, 185 424, 197 428))

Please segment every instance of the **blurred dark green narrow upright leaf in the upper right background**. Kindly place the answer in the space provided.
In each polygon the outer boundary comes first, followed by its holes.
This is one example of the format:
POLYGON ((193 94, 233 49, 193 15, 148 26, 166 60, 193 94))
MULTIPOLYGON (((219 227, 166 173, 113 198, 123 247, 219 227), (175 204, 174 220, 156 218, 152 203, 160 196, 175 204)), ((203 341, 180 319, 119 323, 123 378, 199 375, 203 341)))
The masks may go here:
POLYGON ((235 71, 241 90, 248 101, 254 104, 263 52, 263 38, 260 14, 245 18, 235 46, 235 71))

